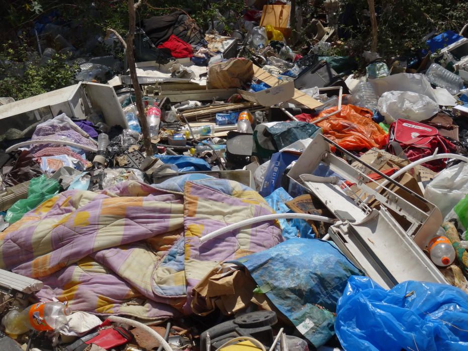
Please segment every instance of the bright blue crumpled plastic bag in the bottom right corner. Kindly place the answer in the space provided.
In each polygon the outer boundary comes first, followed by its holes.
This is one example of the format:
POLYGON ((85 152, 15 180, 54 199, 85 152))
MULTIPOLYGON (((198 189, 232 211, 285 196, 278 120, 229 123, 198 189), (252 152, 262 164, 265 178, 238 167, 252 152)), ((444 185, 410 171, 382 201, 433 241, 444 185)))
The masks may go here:
POLYGON ((466 350, 468 295, 445 284, 406 281, 385 290, 351 277, 335 331, 346 350, 466 350))

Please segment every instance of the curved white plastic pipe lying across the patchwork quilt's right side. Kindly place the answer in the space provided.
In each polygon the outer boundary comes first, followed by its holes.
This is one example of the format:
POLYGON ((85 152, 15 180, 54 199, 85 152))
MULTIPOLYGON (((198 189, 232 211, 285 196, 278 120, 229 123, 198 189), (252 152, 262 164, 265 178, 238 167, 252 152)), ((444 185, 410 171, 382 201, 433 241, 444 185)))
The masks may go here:
POLYGON ((263 215, 263 216, 258 216, 258 217, 253 217, 246 219, 244 221, 241 221, 239 223, 234 223, 231 224, 227 227, 220 228, 218 230, 215 230, 214 232, 211 232, 210 234, 207 234, 203 237, 200 238, 200 243, 203 244, 207 242, 208 240, 211 240, 213 238, 216 238, 217 236, 223 235, 227 232, 230 232, 232 230, 238 229, 238 228, 243 228, 247 227, 251 224, 259 223, 259 222, 266 222, 266 221, 272 221, 276 219, 305 219, 305 220, 312 220, 312 221, 321 221, 325 223, 335 223, 336 219, 333 218, 328 218, 328 217, 323 217, 323 216, 316 216, 316 215, 309 215, 307 213, 276 213, 272 215, 263 215))

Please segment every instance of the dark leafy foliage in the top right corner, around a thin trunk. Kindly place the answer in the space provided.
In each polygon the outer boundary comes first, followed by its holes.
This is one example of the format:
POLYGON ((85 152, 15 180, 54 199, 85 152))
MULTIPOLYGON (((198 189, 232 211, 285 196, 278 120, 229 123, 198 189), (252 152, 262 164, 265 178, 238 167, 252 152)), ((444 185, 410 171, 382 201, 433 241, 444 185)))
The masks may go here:
MULTIPOLYGON (((350 34, 345 46, 350 55, 361 56, 370 49, 371 27, 367 0, 345 0, 354 7, 354 19, 342 25, 350 34)), ((468 20, 468 2, 458 0, 381 0, 375 2, 378 26, 378 53, 384 58, 412 56, 425 48, 422 38, 431 31, 458 32, 468 20)), ((345 6, 341 7, 344 11, 345 6)))

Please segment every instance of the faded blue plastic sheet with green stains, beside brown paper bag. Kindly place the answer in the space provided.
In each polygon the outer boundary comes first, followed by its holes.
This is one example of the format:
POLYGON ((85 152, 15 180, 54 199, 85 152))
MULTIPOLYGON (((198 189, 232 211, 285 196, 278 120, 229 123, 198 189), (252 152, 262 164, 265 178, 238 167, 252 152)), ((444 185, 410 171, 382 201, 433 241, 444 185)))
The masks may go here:
POLYGON ((361 274, 333 243, 319 239, 292 238, 236 263, 316 347, 334 335, 338 299, 348 278, 361 274))

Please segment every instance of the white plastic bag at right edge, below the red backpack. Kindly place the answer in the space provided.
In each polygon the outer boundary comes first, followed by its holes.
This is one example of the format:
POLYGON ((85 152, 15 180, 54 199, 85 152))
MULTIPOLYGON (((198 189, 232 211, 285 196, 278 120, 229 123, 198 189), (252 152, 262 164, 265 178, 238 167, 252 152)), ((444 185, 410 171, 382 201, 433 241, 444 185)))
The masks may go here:
POLYGON ((424 198, 445 217, 468 194, 468 164, 460 162, 441 170, 427 185, 424 198))

